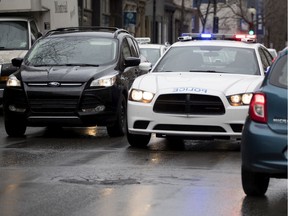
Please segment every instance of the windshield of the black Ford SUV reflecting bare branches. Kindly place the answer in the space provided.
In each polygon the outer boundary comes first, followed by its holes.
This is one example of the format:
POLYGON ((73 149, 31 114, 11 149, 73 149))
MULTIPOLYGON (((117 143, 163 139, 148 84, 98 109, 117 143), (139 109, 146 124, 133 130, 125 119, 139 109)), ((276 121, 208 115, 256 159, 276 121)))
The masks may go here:
POLYGON ((51 37, 31 49, 26 65, 103 65, 117 58, 117 40, 95 37, 51 37))

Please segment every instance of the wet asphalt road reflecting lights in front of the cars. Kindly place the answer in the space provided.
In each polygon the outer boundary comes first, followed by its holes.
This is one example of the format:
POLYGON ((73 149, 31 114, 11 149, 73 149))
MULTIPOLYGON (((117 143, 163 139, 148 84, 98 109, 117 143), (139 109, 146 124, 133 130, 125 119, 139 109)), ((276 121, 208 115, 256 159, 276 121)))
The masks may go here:
POLYGON ((153 138, 147 149, 105 128, 28 128, 9 138, 0 115, 1 216, 286 216, 287 180, 265 197, 241 187, 239 143, 153 138))

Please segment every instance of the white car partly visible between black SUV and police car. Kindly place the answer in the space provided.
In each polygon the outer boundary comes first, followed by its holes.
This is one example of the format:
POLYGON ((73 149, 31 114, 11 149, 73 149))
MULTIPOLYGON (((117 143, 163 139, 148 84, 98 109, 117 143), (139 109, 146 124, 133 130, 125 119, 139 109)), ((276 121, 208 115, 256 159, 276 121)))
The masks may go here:
POLYGON ((151 44, 150 38, 136 38, 140 52, 144 55, 152 65, 165 53, 169 45, 166 44, 151 44))

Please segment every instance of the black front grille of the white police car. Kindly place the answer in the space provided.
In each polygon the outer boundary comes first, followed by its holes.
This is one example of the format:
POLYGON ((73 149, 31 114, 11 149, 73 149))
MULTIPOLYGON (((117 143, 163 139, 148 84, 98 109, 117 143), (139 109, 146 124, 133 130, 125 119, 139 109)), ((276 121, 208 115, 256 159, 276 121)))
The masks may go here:
POLYGON ((160 95, 153 107, 157 113, 223 115, 225 107, 219 97, 200 94, 160 95))

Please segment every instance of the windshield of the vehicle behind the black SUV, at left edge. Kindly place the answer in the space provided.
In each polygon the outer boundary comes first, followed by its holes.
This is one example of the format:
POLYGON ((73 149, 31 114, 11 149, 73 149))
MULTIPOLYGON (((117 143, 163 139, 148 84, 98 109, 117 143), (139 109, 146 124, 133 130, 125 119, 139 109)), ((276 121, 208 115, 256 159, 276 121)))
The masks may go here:
POLYGON ((28 23, 0 21, 0 50, 28 50, 28 23))

